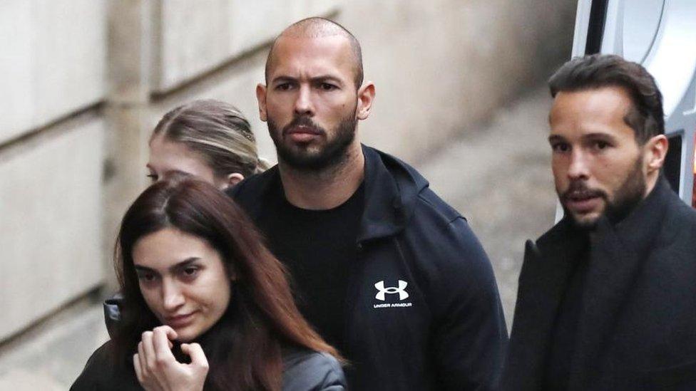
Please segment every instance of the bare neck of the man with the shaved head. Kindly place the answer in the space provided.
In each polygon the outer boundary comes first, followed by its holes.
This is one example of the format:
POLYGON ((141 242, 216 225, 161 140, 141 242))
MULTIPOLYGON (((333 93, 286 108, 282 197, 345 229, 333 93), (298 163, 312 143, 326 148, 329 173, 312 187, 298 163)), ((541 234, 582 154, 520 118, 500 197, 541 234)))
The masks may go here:
POLYGON ((324 210, 343 204, 362 183, 365 157, 359 142, 346 151, 345 159, 322 170, 297 170, 279 161, 285 198, 302 209, 324 210))

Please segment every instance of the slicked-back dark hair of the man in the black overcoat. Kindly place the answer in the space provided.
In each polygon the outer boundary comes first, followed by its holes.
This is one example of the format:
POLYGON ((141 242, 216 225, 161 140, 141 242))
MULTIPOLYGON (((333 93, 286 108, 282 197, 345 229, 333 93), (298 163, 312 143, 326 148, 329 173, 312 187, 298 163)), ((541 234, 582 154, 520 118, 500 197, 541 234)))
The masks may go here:
POLYGON ((612 54, 573 58, 551 76, 548 86, 554 98, 561 91, 623 88, 633 103, 624 121, 635 132, 635 140, 642 145, 665 133, 662 94, 652 75, 638 63, 612 54))

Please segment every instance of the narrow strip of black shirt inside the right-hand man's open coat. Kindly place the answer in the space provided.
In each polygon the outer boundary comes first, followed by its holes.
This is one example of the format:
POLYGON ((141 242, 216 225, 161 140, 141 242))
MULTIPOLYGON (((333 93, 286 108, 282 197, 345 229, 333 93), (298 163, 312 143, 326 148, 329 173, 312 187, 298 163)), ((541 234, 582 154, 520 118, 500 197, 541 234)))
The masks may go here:
POLYGON ((570 379, 570 367, 575 342, 578 339, 578 323, 583 309, 583 290, 585 278, 588 273, 589 249, 585 246, 580 251, 573 266, 573 272, 568 278, 561 306, 556 315, 556 323, 551 332, 551 345, 549 347, 548 361, 546 365, 546 387, 544 390, 568 390, 570 379))

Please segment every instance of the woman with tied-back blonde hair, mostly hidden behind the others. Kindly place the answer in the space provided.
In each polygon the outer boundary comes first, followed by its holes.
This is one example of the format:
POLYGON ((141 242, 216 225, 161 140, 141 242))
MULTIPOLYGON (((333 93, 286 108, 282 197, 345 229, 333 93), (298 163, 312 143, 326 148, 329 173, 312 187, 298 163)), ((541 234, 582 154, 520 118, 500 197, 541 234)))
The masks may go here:
MULTIPOLYGON (((221 100, 193 100, 169 110, 150 135, 148 150, 152 182, 189 174, 225 189, 268 168, 247 118, 221 100)), ((121 318, 121 297, 116 293, 104 302, 109 335, 121 318)))

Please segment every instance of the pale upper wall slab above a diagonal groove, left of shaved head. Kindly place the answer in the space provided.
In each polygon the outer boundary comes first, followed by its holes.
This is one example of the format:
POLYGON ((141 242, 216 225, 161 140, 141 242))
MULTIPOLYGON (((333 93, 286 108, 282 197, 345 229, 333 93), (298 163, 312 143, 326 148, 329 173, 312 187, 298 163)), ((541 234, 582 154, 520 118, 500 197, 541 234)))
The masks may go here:
POLYGON ((267 43, 293 21, 325 15, 336 0, 168 0, 155 9, 155 90, 198 77, 267 43))

